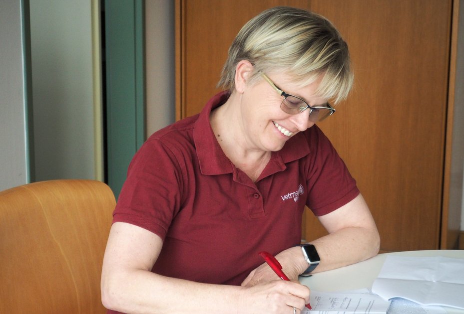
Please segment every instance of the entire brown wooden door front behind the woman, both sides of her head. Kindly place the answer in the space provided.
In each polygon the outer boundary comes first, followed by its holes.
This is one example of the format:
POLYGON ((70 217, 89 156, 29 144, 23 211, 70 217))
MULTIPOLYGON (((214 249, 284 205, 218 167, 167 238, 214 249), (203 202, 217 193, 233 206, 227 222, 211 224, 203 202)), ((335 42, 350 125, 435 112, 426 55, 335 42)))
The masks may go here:
MULTIPOLYGON (((348 42, 355 86, 320 124, 357 179, 384 251, 440 244, 451 0, 178 0, 177 118, 217 92, 240 27, 275 5, 329 18, 348 42)), ((303 238, 325 234, 306 213, 303 238)))

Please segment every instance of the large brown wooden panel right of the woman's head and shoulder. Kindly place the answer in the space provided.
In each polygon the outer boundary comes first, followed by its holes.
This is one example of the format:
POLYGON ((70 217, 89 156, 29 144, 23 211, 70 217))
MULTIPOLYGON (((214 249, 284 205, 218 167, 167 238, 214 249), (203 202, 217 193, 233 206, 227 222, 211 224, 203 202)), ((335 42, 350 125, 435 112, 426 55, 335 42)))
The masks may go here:
POLYGON ((355 86, 321 124, 381 233, 382 250, 438 249, 451 1, 312 1, 350 47, 355 86))

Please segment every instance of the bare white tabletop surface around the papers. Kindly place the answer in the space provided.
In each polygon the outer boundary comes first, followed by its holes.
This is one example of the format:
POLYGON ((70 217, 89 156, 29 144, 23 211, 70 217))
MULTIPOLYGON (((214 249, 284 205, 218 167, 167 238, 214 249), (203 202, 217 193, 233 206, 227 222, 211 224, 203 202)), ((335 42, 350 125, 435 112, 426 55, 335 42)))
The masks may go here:
MULTIPOLYGON (((418 257, 444 256, 464 259, 464 250, 406 251, 379 254, 364 262, 327 272, 316 273, 311 277, 300 277, 300 283, 315 291, 323 292, 349 291, 362 288, 371 289, 388 255, 418 257)), ((464 313, 464 310, 446 307, 444 307, 444 309, 447 313, 464 313)))

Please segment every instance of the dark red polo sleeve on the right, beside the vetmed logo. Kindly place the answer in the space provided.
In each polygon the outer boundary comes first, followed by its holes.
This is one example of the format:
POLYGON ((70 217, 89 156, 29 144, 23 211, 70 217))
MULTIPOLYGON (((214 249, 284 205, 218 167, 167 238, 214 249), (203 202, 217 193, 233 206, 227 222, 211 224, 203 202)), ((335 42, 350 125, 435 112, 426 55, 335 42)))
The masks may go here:
POLYGON ((311 153, 307 171, 307 206, 316 216, 328 214, 358 196, 356 180, 323 132, 309 133, 311 153))

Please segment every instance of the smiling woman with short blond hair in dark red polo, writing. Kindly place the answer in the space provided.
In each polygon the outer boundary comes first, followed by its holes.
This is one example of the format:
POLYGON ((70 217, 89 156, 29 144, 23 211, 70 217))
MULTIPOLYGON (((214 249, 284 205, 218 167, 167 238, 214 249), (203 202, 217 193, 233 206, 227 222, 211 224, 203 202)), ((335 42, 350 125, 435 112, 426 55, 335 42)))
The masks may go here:
POLYGON ((300 313, 310 295, 300 274, 377 254, 369 208, 314 125, 352 80, 347 45, 325 18, 276 7, 250 20, 229 49, 226 91, 133 158, 103 261, 105 307, 300 313), (300 247, 305 205, 329 235, 300 247), (261 251, 292 281, 263 264, 261 251))

